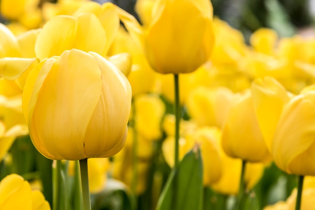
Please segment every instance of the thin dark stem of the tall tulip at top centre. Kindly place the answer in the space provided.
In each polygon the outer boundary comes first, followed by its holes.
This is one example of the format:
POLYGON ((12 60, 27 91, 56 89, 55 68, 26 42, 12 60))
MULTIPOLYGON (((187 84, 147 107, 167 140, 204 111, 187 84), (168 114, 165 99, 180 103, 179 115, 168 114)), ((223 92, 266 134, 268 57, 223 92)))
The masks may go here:
POLYGON ((177 168, 179 164, 179 126, 181 120, 181 107, 179 100, 179 75, 174 74, 174 85, 175 85, 175 161, 174 168, 177 168))

